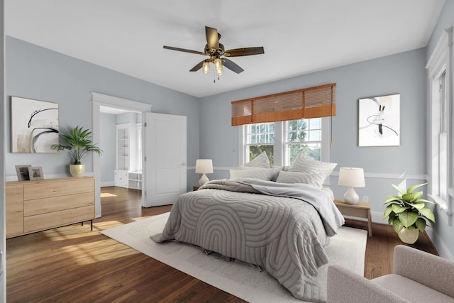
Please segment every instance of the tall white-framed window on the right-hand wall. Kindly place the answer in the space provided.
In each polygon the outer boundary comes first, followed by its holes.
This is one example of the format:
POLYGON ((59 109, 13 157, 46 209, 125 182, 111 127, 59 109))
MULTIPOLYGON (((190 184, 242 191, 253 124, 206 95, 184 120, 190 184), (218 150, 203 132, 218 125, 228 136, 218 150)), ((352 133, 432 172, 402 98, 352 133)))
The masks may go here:
POLYGON ((428 60, 429 79, 429 196, 441 209, 448 214, 448 224, 451 225, 452 206, 450 200, 453 199, 453 172, 449 170, 452 163, 452 133, 451 130, 451 70, 450 53, 452 45, 452 28, 448 28, 442 35, 440 41, 433 50, 431 58, 428 60))

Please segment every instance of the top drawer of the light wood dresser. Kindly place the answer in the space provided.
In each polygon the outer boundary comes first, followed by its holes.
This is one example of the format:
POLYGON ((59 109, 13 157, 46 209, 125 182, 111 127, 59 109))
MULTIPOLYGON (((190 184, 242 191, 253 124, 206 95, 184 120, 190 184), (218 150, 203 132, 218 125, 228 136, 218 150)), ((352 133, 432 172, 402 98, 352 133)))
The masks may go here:
POLYGON ((93 192, 94 180, 70 178, 60 182, 34 182, 23 185, 23 199, 43 199, 48 197, 60 197, 68 194, 81 192, 93 192))

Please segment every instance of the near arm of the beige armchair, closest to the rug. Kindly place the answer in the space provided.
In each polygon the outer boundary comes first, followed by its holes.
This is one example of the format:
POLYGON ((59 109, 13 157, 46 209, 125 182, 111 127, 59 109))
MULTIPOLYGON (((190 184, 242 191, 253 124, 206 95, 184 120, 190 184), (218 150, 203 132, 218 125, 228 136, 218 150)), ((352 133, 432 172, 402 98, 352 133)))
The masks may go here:
POLYGON ((340 265, 328 266, 326 302, 406 302, 406 299, 340 265))

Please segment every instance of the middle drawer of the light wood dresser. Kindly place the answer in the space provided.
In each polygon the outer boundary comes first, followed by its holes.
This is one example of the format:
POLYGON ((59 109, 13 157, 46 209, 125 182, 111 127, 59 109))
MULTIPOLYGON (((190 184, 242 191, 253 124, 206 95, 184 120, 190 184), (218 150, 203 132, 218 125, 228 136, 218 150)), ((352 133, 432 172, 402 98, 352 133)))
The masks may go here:
POLYGON ((62 197, 26 200, 23 202, 23 215, 34 216, 53 211, 74 209, 82 206, 93 205, 94 192, 84 194, 70 194, 62 197))

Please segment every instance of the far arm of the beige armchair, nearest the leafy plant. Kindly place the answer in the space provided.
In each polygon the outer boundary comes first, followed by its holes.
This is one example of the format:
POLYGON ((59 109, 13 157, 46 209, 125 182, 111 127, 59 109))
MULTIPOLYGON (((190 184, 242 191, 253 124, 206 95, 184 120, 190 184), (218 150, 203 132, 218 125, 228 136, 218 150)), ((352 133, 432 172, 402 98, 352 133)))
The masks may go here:
POLYGON ((394 248, 393 272, 454 297, 454 262, 425 251, 399 245, 394 248))

